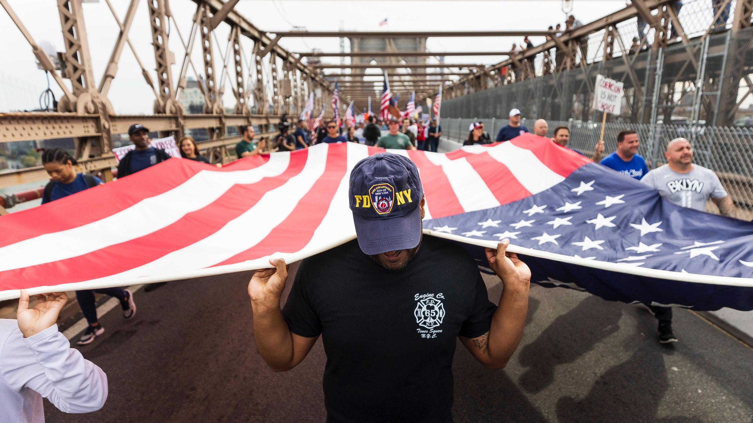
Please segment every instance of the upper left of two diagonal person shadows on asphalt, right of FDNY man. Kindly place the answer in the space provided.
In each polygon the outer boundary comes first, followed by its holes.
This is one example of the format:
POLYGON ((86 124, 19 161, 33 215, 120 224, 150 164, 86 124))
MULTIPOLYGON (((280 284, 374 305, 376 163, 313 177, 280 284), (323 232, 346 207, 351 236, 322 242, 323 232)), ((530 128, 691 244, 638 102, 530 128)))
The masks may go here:
POLYGON ((556 318, 520 351, 520 365, 530 367, 520 376, 520 386, 535 393, 551 385, 557 366, 572 363, 597 342, 617 332, 621 316, 622 307, 590 296, 556 318))

